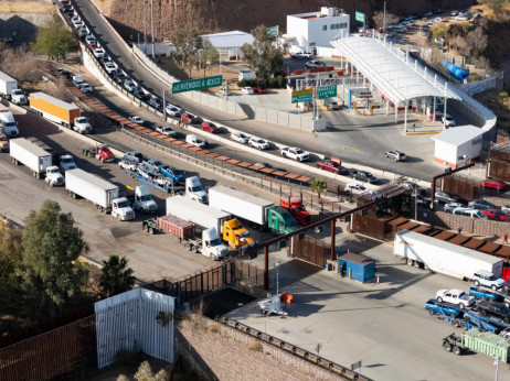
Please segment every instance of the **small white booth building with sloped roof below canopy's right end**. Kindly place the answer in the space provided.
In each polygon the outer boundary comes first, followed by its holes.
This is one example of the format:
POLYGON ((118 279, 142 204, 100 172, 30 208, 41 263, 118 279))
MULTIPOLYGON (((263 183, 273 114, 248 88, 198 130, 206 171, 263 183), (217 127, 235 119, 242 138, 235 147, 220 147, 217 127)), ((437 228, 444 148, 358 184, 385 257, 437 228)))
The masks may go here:
POLYGON ((484 130, 475 126, 454 127, 434 135, 434 161, 455 170, 460 161, 477 159, 482 135, 484 130))

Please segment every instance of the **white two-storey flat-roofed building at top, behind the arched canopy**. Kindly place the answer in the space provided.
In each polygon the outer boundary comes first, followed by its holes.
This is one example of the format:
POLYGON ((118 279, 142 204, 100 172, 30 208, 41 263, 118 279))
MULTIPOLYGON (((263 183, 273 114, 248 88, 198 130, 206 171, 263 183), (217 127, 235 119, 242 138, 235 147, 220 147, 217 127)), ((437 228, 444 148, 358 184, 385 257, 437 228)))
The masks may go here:
POLYGON ((287 15, 287 39, 294 37, 302 51, 316 46, 331 47, 330 41, 337 35, 349 34, 349 14, 336 8, 321 7, 320 12, 287 15))

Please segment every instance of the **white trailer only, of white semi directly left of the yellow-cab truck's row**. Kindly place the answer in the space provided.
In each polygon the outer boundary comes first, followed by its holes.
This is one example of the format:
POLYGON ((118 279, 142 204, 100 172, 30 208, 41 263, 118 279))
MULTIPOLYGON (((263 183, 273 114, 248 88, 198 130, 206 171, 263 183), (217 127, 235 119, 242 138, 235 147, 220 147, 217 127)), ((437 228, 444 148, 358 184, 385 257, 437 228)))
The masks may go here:
POLYGON ((118 186, 79 168, 65 173, 65 188, 70 196, 88 199, 102 211, 109 210, 113 200, 119 198, 118 186))

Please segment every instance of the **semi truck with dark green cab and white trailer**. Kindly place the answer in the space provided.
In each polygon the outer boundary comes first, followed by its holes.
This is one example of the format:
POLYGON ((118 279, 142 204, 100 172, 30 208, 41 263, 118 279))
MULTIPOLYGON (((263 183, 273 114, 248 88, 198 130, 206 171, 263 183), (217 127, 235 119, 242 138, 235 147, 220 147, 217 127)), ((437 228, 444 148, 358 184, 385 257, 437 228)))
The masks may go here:
POLYGON ((281 206, 227 186, 209 189, 209 205, 244 218, 262 229, 288 233, 298 229, 296 219, 281 206))

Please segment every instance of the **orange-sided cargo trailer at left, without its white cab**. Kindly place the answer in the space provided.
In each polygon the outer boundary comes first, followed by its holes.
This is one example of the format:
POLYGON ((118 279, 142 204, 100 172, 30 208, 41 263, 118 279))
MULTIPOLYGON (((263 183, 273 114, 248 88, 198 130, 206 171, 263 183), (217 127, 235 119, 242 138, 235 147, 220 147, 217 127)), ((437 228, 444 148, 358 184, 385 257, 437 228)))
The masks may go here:
POLYGON ((44 119, 67 128, 73 127, 74 120, 79 118, 79 108, 76 105, 67 104, 44 92, 30 95, 30 109, 44 119))

